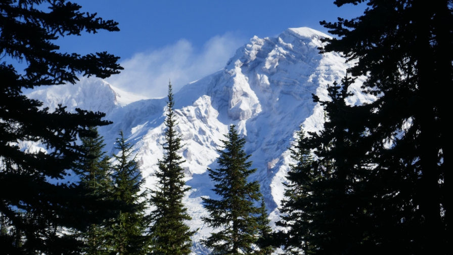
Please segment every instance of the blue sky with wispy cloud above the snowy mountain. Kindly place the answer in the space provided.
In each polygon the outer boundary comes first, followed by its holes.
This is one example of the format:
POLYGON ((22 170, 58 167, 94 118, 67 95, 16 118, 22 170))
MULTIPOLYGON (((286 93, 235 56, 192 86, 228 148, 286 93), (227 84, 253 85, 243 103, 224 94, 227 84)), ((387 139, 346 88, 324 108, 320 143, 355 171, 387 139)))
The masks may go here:
POLYGON ((74 0, 81 11, 119 22, 120 32, 65 36, 64 52, 107 51, 125 68, 107 81, 123 90, 162 97, 221 69, 254 35, 277 36, 290 27, 327 30, 321 20, 353 18, 366 6, 338 8, 334 0, 74 0))

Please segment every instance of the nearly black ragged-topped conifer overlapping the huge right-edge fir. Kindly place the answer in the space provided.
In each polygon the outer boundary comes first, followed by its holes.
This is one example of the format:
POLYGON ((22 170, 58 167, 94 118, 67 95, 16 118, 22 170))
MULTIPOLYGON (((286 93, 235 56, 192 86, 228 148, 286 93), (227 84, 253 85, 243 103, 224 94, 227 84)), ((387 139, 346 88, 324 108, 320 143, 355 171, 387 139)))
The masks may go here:
POLYGON ((324 106, 328 120, 324 130, 310 133, 309 139, 318 157, 312 167, 320 178, 311 184, 310 195, 302 199, 299 207, 310 216, 303 224, 308 231, 307 245, 303 247, 306 253, 363 253, 370 241, 368 231, 372 226, 364 221, 370 200, 364 198, 363 186, 368 180, 371 155, 357 147, 357 141, 366 132, 365 126, 353 121, 360 116, 361 109, 346 104, 346 98, 352 95, 348 88, 353 82, 353 78, 346 76, 341 84, 334 82, 329 86, 331 101, 320 101, 313 95, 314 101, 324 106))

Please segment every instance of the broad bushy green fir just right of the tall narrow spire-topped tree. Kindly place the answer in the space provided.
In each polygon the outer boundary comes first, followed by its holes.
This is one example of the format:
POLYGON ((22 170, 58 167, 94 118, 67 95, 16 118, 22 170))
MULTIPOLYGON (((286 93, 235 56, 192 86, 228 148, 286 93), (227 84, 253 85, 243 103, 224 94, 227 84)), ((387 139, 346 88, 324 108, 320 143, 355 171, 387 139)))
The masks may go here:
MULTIPOLYGON (((240 139, 235 125, 230 126, 228 139, 223 142, 224 151, 218 150, 217 158, 222 168, 209 169, 209 177, 216 183, 215 194, 220 200, 202 198, 209 217, 202 218, 208 226, 221 229, 201 242, 212 249, 212 254, 252 254, 253 245, 258 237, 259 208, 254 206, 259 201, 258 182, 247 182, 247 177, 256 171, 249 169, 252 162, 247 162, 251 155, 242 149, 245 139, 240 139)), ((262 225, 261 225, 261 229, 262 225)))

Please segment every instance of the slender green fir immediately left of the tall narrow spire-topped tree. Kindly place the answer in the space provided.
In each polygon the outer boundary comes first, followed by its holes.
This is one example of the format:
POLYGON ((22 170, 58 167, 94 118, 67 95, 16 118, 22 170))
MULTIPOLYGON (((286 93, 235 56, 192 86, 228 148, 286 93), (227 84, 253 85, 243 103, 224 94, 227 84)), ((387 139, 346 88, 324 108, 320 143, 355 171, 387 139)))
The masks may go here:
POLYGON ((117 164, 112 174, 114 188, 112 199, 119 200, 129 207, 128 211, 120 211, 118 217, 110 222, 108 244, 114 254, 147 254, 149 238, 144 235, 148 226, 145 210, 148 205, 148 192, 141 189, 145 182, 135 158, 131 159, 132 145, 126 142, 123 132, 116 139, 115 155, 117 164))

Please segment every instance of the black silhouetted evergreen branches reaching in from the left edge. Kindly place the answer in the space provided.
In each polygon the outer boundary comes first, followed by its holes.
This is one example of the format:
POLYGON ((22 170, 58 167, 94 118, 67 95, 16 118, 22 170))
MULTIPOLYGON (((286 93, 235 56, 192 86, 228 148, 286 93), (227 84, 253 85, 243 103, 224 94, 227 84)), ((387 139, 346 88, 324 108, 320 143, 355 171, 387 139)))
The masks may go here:
POLYGON ((23 89, 75 83, 79 73, 106 78, 122 69, 118 57, 106 52, 80 56, 61 53, 53 44, 83 30, 119 30, 116 22, 79 9, 64 0, 0 1, 0 215, 10 226, 0 235, 3 254, 77 253, 81 243, 62 230, 84 231, 102 222, 110 207, 63 180, 83 155, 77 136, 94 137, 88 127, 109 124, 101 120, 104 114, 69 113, 63 106, 40 109, 40 102, 22 95, 23 89), (38 9, 41 4, 49 9, 38 9), (24 73, 18 74, 10 60, 26 64, 24 73), (21 141, 40 143, 48 152, 21 150, 21 141))

